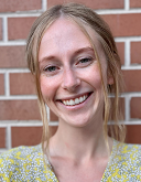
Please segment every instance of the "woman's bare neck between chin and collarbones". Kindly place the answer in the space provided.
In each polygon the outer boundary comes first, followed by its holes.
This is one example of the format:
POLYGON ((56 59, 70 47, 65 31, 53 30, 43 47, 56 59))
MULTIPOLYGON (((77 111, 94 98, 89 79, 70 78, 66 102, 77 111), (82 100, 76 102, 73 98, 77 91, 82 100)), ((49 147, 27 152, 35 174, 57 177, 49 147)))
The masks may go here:
POLYGON ((73 127, 59 122, 58 130, 51 138, 51 156, 66 157, 74 161, 108 157, 102 121, 100 124, 98 122, 98 126, 73 127))

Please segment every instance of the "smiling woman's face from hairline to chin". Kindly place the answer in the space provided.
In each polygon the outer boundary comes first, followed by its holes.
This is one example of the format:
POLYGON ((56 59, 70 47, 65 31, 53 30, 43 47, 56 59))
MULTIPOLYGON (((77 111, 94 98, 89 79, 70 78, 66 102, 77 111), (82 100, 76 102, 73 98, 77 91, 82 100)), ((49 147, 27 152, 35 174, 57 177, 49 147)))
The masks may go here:
MULTIPOLYGON (((88 26, 107 84, 107 64, 96 33, 88 26)), ((40 45, 41 92, 59 122, 84 127, 102 120, 104 93, 98 61, 80 28, 61 18, 44 33, 40 45)))

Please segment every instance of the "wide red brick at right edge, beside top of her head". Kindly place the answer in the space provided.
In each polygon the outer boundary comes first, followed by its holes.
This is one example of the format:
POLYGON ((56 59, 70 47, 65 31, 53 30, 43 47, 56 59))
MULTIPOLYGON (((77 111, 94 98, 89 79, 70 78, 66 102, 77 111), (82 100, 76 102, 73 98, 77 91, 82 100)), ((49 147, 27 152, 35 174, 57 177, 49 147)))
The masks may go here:
POLYGON ((141 35, 141 13, 101 15, 115 36, 141 35))

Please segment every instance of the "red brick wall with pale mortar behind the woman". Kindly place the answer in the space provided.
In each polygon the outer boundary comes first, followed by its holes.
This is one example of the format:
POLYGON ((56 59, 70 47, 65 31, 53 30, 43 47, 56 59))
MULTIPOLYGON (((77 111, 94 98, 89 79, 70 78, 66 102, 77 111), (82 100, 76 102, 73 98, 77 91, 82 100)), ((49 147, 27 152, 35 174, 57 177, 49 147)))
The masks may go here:
MULTIPOLYGON (((41 141, 42 121, 34 81, 24 60, 24 45, 36 17, 61 2, 64 0, 0 0, 0 152, 41 141)), ((113 32, 126 81, 122 97, 127 141, 141 143, 141 1, 75 2, 96 10, 113 32)), ((54 133, 57 117, 48 108, 47 114, 54 133)))

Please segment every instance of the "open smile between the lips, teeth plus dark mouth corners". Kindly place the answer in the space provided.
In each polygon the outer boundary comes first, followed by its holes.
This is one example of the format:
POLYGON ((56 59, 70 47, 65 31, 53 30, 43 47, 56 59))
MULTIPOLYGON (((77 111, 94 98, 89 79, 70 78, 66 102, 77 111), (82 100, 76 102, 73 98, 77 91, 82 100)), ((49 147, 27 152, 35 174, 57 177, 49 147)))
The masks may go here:
POLYGON ((75 106, 75 105, 79 105, 79 104, 84 103, 90 95, 91 95, 91 93, 88 93, 88 94, 84 94, 77 98, 63 99, 59 101, 63 103, 65 106, 75 106))

